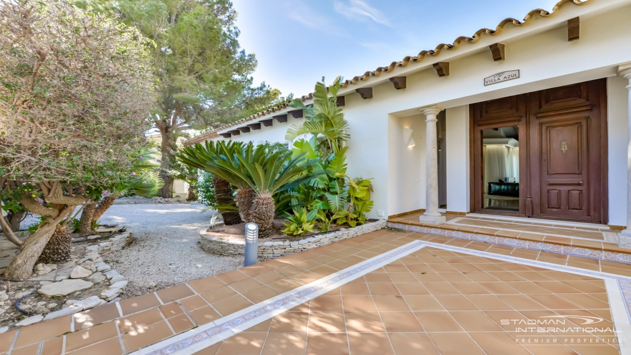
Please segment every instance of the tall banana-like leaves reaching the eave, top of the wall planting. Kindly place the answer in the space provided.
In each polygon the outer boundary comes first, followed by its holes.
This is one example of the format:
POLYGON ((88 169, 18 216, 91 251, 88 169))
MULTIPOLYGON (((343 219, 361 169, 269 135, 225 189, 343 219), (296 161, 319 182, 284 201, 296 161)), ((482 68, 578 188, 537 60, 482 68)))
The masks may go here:
POLYGON ((322 152, 335 153, 343 147, 342 142, 350 139, 350 134, 344 113, 337 105, 340 80, 338 76, 329 88, 324 84, 324 78, 318 81, 312 107, 307 107, 300 99, 292 101, 292 107, 305 112, 305 121, 290 127, 285 135, 286 140, 310 133, 316 137, 322 152))

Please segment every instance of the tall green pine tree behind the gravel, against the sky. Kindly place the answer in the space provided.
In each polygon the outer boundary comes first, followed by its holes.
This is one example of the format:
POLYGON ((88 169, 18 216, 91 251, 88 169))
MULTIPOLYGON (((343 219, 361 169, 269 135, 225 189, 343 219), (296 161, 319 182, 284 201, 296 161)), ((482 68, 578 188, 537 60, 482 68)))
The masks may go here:
POLYGON ((276 104, 278 90, 252 87, 254 54, 240 49, 237 13, 228 0, 90 0, 153 40, 160 102, 153 122, 162 135, 162 197, 171 197, 177 138, 187 129, 229 123, 276 104))

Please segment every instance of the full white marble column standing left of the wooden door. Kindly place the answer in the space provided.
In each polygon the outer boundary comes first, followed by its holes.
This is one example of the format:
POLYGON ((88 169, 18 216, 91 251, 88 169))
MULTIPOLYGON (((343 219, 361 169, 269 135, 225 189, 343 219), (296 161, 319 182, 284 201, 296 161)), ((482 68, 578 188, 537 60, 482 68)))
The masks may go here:
POLYGON ((441 224, 445 217, 438 212, 438 148, 436 139, 436 115, 444 108, 439 105, 421 107, 425 114, 425 213, 420 217, 421 223, 441 224))

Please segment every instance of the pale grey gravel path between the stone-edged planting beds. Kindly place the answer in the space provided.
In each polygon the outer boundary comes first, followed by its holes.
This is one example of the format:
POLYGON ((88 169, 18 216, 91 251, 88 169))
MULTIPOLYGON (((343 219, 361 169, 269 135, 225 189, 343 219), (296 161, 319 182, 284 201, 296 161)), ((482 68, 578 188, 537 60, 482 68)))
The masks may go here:
POLYGON ((243 258, 206 253, 199 231, 208 228, 211 210, 192 204, 113 205, 102 223, 134 227, 134 242, 106 256, 127 277, 126 297, 138 296, 239 267, 243 258))

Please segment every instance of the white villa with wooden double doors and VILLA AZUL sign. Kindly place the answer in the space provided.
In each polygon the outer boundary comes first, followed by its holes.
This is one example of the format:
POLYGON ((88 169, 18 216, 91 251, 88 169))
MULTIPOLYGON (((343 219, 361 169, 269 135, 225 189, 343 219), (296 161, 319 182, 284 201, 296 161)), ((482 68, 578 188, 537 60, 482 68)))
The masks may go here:
MULTIPOLYGON (((631 0, 563 0, 346 80, 348 169, 374 179, 369 217, 631 231, 630 35, 631 0)), ((283 104, 185 144, 285 143, 303 119, 283 104)))

